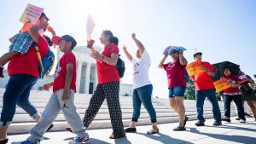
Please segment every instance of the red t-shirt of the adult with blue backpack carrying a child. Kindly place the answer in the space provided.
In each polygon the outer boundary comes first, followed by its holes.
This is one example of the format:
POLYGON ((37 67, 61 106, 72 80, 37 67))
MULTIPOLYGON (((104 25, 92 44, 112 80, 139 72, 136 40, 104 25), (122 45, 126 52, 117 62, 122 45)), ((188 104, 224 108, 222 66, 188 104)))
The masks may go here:
MULTIPOLYGON (((40 55, 42 59, 48 52, 48 43, 44 37, 39 37, 39 42, 37 43, 40 55)), ((26 54, 14 56, 8 65, 9 75, 13 74, 28 74, 35 77, 39 77, 38 70, 38 55, 36 49, 31 46, 26 54)))

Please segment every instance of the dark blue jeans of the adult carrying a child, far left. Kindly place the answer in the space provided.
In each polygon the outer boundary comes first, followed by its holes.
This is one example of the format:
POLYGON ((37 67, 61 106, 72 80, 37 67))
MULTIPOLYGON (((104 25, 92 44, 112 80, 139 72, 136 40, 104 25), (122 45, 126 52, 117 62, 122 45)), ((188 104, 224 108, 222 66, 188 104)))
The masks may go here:
POLYGON ((30 90, 37 81, 37 77, 27 74, 14 74, 10 76, 7 88, 3 94, 0 126, 9 126, 12 123, 16 105, 24 109, 32 118, 38 116, 37 109, 29 101, 30 90))

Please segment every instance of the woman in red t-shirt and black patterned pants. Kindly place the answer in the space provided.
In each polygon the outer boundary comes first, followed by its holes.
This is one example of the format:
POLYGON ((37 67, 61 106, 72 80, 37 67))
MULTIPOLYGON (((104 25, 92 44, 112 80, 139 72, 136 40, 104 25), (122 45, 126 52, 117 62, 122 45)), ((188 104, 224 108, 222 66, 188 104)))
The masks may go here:
POLYGON ((102 54, 91 48, 91 57, 96 60, 98 84, 90 99, 90 104, 84 115, 84 127, 88 128, 91 121, 96 117, 105 98, 108 102, 108 111, 113 127, 110 139, 125 136, 122 122, 122 112, 119 104, 119 72, 116 63, 119 57, 119 39, 113 37, 110 31, 103 31, 100 37, 104 45, 102 54))

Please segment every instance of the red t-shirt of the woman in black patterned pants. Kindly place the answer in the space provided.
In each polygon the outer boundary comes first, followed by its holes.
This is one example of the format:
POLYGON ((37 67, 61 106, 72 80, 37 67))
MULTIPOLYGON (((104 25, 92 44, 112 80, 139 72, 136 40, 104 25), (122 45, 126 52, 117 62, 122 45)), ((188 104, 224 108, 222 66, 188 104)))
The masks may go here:
MULTIPOLYGON (((111 55, 115 53, 119 55, 119 48, 117 45, 111 43, 102 51, 102 55, 110 58, 111 55)), ((97 60, 97 76, 98 76, 98 84, 103 84, 107 82, 117 82, 119 81, 119 72, 116 66, 108 65, 106 62, 102 60, 97 60)))

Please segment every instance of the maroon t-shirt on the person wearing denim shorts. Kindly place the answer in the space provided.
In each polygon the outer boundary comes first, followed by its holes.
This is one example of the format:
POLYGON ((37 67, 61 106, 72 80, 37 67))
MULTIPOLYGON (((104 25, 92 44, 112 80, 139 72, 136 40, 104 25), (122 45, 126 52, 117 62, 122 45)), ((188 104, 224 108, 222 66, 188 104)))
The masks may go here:
POLYGON ((168 79, 168 88, 177 87, 177 86, 186 86, 185 78, 185 68, 177 61, 172 61, 167 64, 164 64, 164 69, 166 70, 167 79, 168 79))

